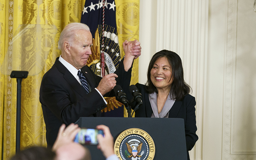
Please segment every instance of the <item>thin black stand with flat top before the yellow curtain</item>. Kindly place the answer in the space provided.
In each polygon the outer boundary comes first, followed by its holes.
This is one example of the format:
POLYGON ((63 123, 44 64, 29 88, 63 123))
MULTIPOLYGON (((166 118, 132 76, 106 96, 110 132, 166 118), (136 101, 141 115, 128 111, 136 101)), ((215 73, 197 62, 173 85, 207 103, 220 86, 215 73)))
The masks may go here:
POLYGON ((21 81, 27 76, 28 71, 12 71, 10 75, 11 78, 17 78, 16 153, 20 152, 21 81))

